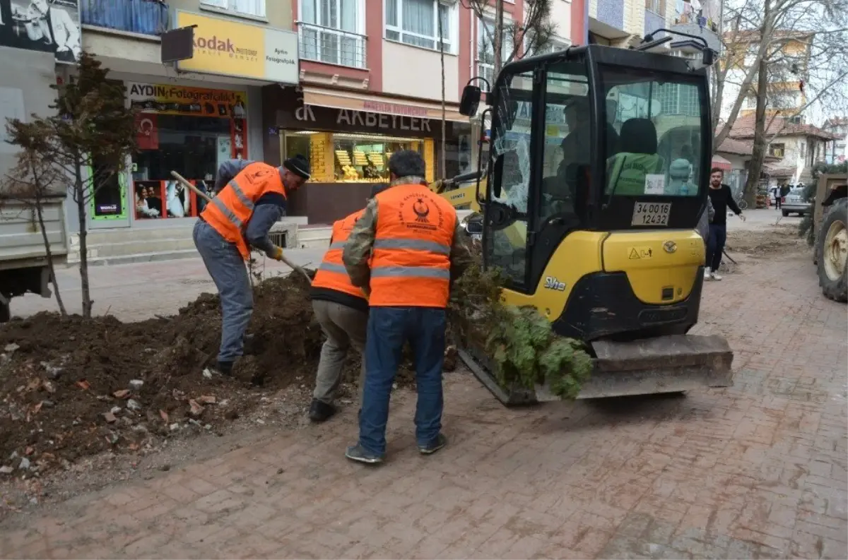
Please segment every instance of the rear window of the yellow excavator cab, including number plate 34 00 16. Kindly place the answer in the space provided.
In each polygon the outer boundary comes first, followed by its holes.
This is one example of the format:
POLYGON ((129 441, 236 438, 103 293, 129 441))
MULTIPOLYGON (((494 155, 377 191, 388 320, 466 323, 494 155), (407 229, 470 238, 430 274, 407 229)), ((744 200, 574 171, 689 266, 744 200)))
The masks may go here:
POLYGON ((695 227, 706 191, 700 81, 614 66, 600 68, 600 81, 605 98, 616 100, 615 114, 601 108, 618 141, 603 152, 599 229, 695 227))

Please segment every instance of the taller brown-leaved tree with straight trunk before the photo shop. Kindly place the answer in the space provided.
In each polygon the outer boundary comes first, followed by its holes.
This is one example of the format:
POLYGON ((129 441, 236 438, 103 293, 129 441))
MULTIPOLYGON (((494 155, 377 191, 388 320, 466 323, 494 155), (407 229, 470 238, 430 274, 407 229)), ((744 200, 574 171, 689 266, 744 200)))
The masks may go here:
MULTIPOLYGON (((58 98, 56 114, 32 115, 41 139, 21 135, 15 145, 37 146, 43 161, 49 161, 65 178, 76 203, 80 222, 80 279, 82 316, 92 316, 88 282, 86 207, 104 186, 126 168, 126 158, 136 147, 135 111, 126 108, 124 86, 107 78, 108 69, 89 53, 82 53, 78 74, 68 83, 53 86, 58 98)), ((59 175, 58 175, 59 176, 59 175)))

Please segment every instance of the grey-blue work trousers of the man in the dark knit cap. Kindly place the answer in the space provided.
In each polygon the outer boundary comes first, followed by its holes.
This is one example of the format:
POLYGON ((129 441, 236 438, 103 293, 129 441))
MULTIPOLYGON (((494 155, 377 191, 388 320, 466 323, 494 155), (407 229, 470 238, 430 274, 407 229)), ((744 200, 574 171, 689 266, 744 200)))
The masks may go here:
POLYGON ((234 362, 244 350, 244 333, 254 312, 254 294, 248 269, 235 243, 226 241, 215 228, 199 220, 194 225, 194 245, 204 259, 220 294, 219 362, 234 362))

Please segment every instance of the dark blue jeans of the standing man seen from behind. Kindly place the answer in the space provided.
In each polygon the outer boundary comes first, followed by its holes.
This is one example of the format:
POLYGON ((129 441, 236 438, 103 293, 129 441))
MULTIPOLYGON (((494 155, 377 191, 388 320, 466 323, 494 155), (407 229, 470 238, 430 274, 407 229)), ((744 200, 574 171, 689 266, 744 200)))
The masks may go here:
POLYGON ((382 455, 386 452, 388 400, 398 372, 404 342, 415 355, 418 403, 416 441, 429 446, 442 430, 442 365, 444 330, 440 308, 371 308, 365 339, 365 392, 360 415, 360 446, 382 455))

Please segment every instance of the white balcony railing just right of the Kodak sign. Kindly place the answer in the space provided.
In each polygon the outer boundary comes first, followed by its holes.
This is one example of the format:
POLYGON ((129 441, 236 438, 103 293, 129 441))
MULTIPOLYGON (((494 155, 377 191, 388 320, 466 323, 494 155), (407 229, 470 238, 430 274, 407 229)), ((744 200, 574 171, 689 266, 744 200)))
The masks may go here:
POLYGON ((366 36, 323 25, 308 24, 304 21, 297 23, 300 58, 326 64, 365 68, 366 36))

